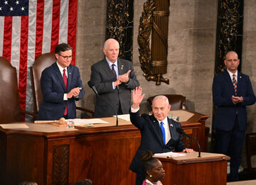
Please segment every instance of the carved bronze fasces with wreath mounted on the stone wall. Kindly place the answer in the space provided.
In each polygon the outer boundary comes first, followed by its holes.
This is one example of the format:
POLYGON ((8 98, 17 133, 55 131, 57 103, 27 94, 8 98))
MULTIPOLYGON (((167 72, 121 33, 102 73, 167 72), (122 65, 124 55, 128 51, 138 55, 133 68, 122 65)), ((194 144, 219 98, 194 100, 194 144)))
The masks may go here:
POLYGON ((169 84, 162 76, 167 72, 169 5, 169 0, 148 0, 139 20, 139 62, 143 76, 156 85, 169 84))

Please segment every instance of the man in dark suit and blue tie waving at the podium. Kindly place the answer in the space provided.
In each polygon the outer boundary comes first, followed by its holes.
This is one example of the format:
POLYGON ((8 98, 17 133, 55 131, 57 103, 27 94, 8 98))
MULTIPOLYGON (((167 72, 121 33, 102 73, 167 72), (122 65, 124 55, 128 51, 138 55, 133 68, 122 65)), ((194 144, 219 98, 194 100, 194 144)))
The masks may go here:
POLYGON ((136 88, 132 92, 132 107, 130 119, 132 124, 139 128, 142 135, 141 144, 137 150, 129 169, 137 173, 136 185, 141 185, 145 179, 142 172, 140 155, 145 150, 151 150, 153 154, 163 152, 193 152, 184 146, 182 135, 176 132, 181 128, 181 123, 167 117, 171 105, 166 96, 156 96, 152 101, 153 114, 139 116, 139 104, 142 102, 142 88, 136 88))

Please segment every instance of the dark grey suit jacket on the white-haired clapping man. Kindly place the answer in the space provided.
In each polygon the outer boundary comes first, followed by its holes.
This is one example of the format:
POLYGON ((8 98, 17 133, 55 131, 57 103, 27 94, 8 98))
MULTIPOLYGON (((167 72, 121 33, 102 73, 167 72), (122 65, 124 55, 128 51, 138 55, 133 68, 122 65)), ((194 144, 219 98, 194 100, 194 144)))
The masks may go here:
MULTIPOLYGON (((118 111, 120 102, 122 113, 125 114, 129 113, 129 108, 132 105, 131 90, 135 89, 136 86, 139 86, 139 82, 134 73, 132 62, 118 59, 117 66, 119 75, 127 73, 129 70, 131 70, 129 73, 129 84, 122 83, 118 86, 118 88, 113 90, 112 82, 114 82, 115 79, 106 59, 92 65, 90 81, 96 87, 101 99, 110 103, 116 112, 118 111)), ((115 113, 112 108, 110 108, 110 106, 101 99, 96 96, 95 117, 113 116, 115 113)))

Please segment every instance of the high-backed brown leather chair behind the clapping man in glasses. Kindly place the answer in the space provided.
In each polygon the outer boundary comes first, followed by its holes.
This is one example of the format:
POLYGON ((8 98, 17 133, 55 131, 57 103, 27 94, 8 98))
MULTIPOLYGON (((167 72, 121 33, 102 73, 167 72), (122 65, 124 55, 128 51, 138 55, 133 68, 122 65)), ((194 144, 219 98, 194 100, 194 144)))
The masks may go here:
MULTIPOLYGON (((39 107, 43 101, 43 94, 41 91, 41 73, 43 72, 43 69, 46 69, 46 67, 52 65, 56 61, 55 54, 53 52, 48 52, 40 55, 38 58, 36 58, 36 61, 33 63, 33 66, 30 67, 31 70, 31 85, 32 85, 32 91, 33 91, 33 109, 34 113, 38 113, 39 107)), ((76 109, 80 111, 85 111, 87 113, 90 113, 92 117, 94 116, 94 111, 77 106, 76 109)))

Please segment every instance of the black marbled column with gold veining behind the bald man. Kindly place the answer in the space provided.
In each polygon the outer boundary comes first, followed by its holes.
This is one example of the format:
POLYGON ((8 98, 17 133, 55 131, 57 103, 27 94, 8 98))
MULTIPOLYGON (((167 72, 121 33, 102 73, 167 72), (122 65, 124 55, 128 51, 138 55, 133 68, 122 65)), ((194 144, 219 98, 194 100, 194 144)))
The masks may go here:
POLYGON ((243 24, 243 2, 239 0, 219 0, 217 37, 215 54, 215 74, 225 69, 225 54, 233 50, 240 56, 240 71, 242 62, 242 24, 243 24))

